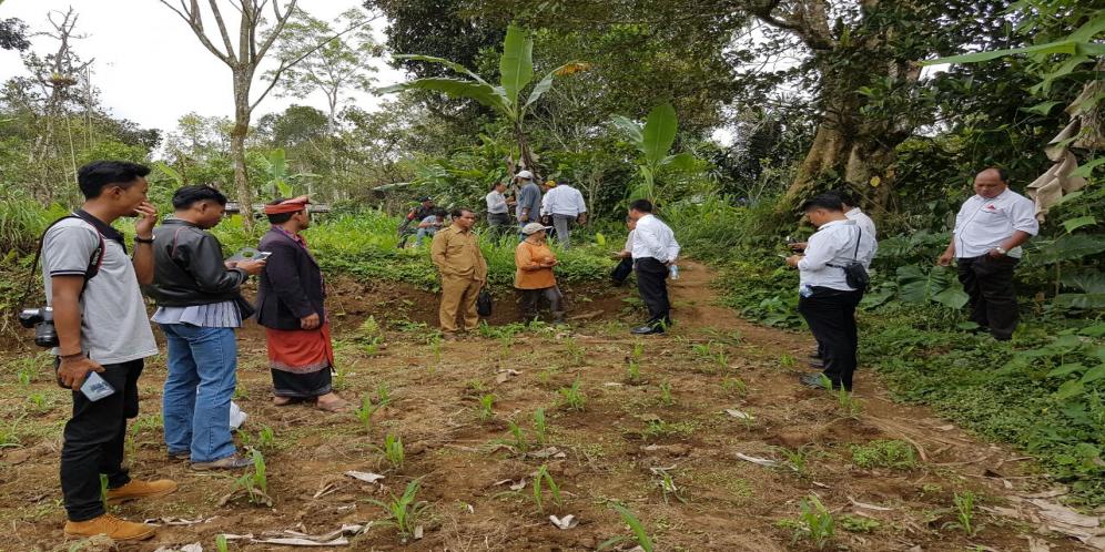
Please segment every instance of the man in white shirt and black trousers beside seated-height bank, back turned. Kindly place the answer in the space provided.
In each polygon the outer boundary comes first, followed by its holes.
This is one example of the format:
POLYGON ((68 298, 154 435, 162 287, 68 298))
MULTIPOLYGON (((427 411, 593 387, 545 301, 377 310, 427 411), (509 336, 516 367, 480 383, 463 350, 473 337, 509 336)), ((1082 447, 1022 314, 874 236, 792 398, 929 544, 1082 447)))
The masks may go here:
POLYGON ((671 228, 652 215, 652 203, 637 200, 629 204, 629 218, 635 221, 632 249, 637 290, 648 307, 649 319, 633 328, 636 335, 662 334, 671 324, 668 301, 668 270, 679 256, 679 243, 671 228))

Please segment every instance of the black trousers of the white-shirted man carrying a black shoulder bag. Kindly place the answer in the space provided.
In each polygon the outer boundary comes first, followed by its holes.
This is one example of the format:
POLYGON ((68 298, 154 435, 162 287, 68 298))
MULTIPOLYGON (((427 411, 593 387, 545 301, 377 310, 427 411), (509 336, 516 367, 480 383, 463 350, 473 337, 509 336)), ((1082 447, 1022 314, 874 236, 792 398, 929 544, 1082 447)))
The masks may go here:
POLYGON ((863 298, 863 292, 828 287, 812 289, 812 295, 798 299, 798 311, 818 340, 818 349, 825 362, 823 374, 833 386, 851 391, 855 350, 860 344, 855 329, 855 306, 863 298))

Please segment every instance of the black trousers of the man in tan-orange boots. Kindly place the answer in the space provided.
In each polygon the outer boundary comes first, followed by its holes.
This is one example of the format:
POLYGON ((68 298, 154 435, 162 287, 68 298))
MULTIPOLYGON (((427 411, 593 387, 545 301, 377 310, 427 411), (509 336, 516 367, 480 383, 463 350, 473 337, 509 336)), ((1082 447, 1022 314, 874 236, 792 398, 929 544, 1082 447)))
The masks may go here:
POLYGON ((87 521, 104 513, 100 497, 100 474, 108 488, 130 482, 123 467, 126 419, 138 416, 138 378, 142 359, 103 365, 105 379, 115 392, 98 401, 73 391, 73 417, 65 422, 61 446, 61 492, 71 521, 87 521))

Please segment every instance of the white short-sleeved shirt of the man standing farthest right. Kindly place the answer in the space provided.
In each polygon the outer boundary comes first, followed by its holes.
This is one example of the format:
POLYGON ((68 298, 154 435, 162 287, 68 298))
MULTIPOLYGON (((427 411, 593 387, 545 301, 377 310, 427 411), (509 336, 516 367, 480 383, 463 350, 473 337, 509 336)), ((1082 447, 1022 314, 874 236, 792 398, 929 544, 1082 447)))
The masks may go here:
MULTIPOLYGON (((955 215, 955 256, 981 257, 1016 231, 1032 236, 1040 232, 1036 207, 1031 200, 1008 188, 990 200, 975 194, 963 202, 955 215)), ((1021 258, 1022 253, 1021 247, 1014 247, 1008 256, 1021 258)))

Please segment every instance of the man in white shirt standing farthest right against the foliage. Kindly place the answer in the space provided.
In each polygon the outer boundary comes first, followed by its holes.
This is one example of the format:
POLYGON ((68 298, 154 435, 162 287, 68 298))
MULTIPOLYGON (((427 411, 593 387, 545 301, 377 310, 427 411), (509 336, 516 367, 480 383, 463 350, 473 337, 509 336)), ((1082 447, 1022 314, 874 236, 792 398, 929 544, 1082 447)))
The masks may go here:
POLYGON ((1008 188, 1008 174, 987 168, 974 178, 975 195, 955 215, 955 231, 936 264, 957 258, 960 282, 971 296, 971 320, 994 339, 1013 337, 1018 313, 1013 269, 1021 245, 1040 232, 1032 201, 1008 188))

